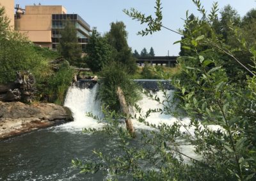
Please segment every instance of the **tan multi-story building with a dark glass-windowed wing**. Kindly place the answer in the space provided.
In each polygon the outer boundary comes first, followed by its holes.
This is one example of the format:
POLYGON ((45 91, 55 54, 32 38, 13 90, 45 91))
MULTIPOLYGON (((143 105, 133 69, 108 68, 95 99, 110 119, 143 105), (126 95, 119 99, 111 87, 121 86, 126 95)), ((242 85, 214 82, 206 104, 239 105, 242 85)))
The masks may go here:
POLYGON ((26 6, 25 10, 16 5, 15 30, 27 34, 29 40, 42 47, 56 50, 60 42, 61 29, 67 21, 72 21, 77 30, 77 38, 84 50, 90 37, 90 25, 77 14, 67 14, 63 6, 26 6), (22 10, 22 11, 20 11, 22 10))

